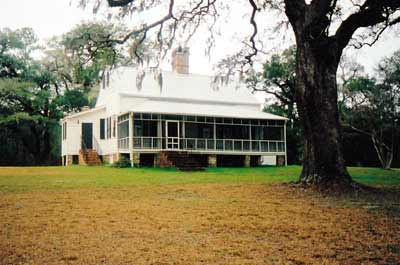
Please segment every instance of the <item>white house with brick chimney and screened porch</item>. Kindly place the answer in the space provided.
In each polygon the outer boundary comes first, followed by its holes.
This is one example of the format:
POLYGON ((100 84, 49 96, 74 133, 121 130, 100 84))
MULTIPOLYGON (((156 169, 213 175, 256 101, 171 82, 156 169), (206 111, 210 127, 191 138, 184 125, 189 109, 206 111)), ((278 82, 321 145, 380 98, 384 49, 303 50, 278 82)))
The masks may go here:
POLYGON ((285 164, 286 118, 263 112, 244 85, 189 74, 187 49, 172 56, 172 72, 106 72, 95 108, 61 121, 63 164, 285 164))

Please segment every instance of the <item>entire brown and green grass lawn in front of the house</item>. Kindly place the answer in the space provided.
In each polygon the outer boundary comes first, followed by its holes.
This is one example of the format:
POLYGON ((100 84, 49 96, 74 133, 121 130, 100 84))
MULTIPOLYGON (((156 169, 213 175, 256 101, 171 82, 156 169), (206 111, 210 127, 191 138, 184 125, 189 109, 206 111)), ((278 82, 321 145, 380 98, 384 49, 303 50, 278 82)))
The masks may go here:
POLYGON ((300 170, 0 168, 0 264, 400 263, 400 170, 349 169, 380 200, 283 184, 300 170))

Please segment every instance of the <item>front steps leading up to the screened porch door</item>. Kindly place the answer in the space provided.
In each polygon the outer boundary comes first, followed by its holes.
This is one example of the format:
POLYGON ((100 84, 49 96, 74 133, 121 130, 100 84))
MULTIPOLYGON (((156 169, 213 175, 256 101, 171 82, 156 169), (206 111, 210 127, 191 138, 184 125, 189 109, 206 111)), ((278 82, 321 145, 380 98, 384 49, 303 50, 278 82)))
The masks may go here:
POLYGON ((164 151, 163 157, 175 166, 177 169, 182 171, 202 171, 204 168, 196 157, 191 156, 187 152, 179 151, 164 151))

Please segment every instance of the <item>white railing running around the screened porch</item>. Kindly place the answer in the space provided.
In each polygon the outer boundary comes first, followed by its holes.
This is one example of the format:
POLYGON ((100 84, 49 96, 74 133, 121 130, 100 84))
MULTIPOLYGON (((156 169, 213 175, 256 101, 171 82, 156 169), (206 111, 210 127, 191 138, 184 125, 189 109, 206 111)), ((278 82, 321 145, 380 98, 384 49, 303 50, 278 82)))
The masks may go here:
MULTIPOLYGON (((163 150, 167 137, 134 137, 133 149, 163 150)), ((118 139, 120 150, 129 150, 129 137, 118 139)), ((226 152, 285 152, 284 141, 180 138, 178 150, 184 151, 226 151, 226 152)))

